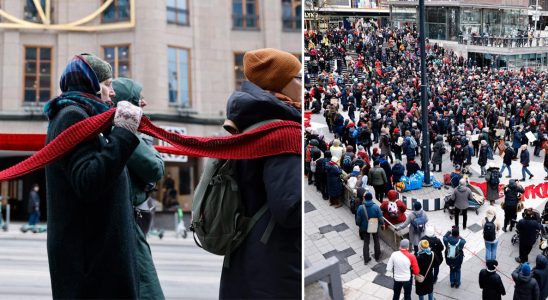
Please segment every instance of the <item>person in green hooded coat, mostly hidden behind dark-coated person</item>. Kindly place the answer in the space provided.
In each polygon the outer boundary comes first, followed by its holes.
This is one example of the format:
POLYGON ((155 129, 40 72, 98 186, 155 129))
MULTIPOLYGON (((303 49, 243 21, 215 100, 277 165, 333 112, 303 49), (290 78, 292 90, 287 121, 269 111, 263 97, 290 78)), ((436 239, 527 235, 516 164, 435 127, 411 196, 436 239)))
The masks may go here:
MULTIPOLYGON (((127 78, 118 78, 112 82, 112 86, 116 92, 116 96, 112 98, 114 103, 125 100, 141 108, 146 105, 141 94, 142 86, 139 83, 127 78)), ((164 175, 164 161, 160 153, 148 145, 141 136, 138 138, 139 145, 127 162, 133 207, 147 205, 147 186, 154 184, 164 175)), ((134 223, 137 235, 135 254, 139 278, 139 299, 164 299, 150 247, 146 241, 146 233, 137 225, 137 220, 134 223)))

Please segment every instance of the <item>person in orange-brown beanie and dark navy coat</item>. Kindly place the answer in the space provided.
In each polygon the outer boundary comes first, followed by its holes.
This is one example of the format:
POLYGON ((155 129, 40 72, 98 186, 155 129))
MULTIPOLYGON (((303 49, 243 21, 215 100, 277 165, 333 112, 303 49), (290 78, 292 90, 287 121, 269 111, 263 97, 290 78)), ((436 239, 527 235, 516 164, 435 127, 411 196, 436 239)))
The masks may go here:
MULTIPOLYGON (((281 50, 248 51, 247 80, 228 99, 225 129, 243 132, 268 120, 301 123, 301 68, 295 56, 281 50)), ((219 299, 300 299, 301 155, 238 160, 236 170, 246 216, 254 216, 261 207, 267 210, 230 254, 219 299)))

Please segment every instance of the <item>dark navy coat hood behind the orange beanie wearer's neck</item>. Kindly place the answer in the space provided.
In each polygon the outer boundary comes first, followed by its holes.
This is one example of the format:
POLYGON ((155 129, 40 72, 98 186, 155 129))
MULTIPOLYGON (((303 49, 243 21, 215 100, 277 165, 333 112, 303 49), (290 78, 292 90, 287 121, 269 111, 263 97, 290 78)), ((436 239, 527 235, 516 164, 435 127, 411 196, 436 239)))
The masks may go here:
POLYGON ((229 98, 226 117, 242 132, 249 126, 272 119, 301 122, 301 112, 249 81, 229 98))

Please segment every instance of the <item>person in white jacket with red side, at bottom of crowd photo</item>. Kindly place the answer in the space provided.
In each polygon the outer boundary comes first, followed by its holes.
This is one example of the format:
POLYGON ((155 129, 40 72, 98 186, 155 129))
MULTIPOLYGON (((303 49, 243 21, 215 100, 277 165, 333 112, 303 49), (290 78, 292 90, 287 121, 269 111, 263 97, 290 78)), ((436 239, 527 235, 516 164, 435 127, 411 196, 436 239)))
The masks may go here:
POLYGON ((419 264, 417 258, 409 253, 409 240, 403 239, 400 242, 400 250, 390 255, 386 264, 386 274, 394 278, 394 296, 392 300, 399 300, 401 289, 403 287, 403 299, 411 300, 411 272, 413 275, 419 274, 419 264))

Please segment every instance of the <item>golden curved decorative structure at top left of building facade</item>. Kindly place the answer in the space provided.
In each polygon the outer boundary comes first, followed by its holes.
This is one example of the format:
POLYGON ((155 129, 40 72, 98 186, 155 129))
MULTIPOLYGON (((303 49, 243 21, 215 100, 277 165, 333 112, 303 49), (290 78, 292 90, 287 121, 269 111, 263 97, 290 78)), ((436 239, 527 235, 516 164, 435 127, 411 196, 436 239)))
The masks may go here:
POLYGON ((0 28, 95 32, 135 27, 135 0, 129 0, 130 17, 129 21, 127 22, 90 26, 84 25, 101 15, 101 13, 103 13, 113 2, 114 0, 106 0, 96 11, 86 17, 81 18, 80 20, 66 24, 51 24, 51 0, 45 0, 45 10, 44 7, 42 7, 40 0, 33 0, 34 5, 36 6, 36 10, 38 11, 38 16, 40 17, 42 23, 28 22, 20 18, 14 17, 3 9, 0 9, 0 17, 11 22, 0 22, 0 28))

